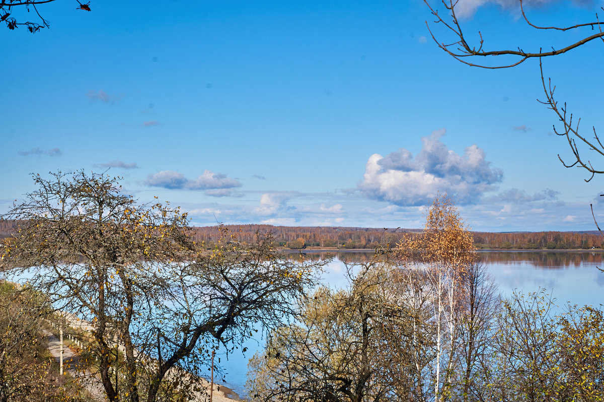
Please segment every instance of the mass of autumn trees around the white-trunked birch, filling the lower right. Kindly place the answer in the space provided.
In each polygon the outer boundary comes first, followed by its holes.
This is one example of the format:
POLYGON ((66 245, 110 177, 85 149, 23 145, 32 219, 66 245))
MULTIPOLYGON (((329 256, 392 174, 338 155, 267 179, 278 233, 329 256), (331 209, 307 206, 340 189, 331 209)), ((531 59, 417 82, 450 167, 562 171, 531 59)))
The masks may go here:
POLYGON ((447 196, 422 233, 347 265, 249 363, 252 397, 277 401, 598 401, 604 320, 544 291, 500 300, 447 196))

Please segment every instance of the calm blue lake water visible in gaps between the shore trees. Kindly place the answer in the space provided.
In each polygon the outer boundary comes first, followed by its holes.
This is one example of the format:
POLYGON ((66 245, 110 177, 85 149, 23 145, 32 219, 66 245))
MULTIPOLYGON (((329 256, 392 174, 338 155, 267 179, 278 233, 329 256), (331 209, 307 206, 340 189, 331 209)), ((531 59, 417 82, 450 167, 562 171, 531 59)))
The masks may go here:
MULTIPOLYGON (((324 259, 327 253, 304 253, 313 259, 324 259)), ((348 284, 344 261, 369 261, 373 253, 342 251, 334 256, 323 274, 326 284, 343 288, 348 284)), ((597 251, 479 251, 480 261, 486 265, 502 296, 514 290, 524 293, 545 288, 547 293, 564 308, 567 302, 577 305, 600 306, 604 303, 604 252, 597 251)), ((244 395, 247 361, 263 346, 263 341, 249 341, 245 356, 240 352, 222 359, 228 386, 244 395)))

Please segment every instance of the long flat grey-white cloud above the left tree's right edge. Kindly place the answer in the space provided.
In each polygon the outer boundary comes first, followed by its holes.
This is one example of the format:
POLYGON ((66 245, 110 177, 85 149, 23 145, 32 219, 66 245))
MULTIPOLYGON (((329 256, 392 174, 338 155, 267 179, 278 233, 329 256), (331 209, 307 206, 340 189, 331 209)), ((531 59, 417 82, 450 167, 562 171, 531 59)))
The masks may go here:
POLYGON ((162 170, 147 176, 144 184, 164 189, 206 190, 206 193, 211 196, 230 195, 230 193, 220 193, 213 190, 241 187, 241 183, 234 178, 226 177, 222 173, 214 173, 211 170, 204 170, 202 175, 193 180, 189 180, 182 173, 173 170, 162 170))

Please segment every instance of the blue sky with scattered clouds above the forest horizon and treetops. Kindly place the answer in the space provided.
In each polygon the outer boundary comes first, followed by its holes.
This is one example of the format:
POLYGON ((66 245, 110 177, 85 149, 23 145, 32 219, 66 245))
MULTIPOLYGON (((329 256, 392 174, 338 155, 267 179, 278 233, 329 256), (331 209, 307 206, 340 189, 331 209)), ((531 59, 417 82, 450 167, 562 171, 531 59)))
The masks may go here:
MULTIPOLYGON (((529 29, 513 0, 459 4, 465 32, 489 48, 592 33, 529 29)), ((601 5, 528 2, 543 25, 593 21, 601 5)), ((111 167, 127 192, 197 225, 421 227, 448 192, 474 230, 595 229, 602 178, 585 183, 557 160, 571 154, 536 100, 538 61, 461 65, 432 42, 423 1, 76 7, 40 5, 51 28, 36 34, 0 29, 0 213, 33 190, 29 173, 111 167)), ((583 132, 604 127, 603 62, 595 41, 544 60, 583 132)))

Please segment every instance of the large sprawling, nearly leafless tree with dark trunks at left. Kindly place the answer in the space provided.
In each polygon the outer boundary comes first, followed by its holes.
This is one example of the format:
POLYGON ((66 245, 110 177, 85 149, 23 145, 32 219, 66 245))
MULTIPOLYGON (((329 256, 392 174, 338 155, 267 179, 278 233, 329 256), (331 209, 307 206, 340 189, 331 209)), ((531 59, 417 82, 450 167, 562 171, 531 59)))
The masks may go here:
POLYGON ((29 272, 57 310, 91 324, 89 349, 110 401, 195 392, 211 349, 280 324, 321 265, 281 259, 270 235, 246 245, 223 231, 208 253, 191 240, 186 213, 137 204, 106 174, 34 182, 5 215, 22 224, 5 240, 2 264, 29 272), (109 372, 116 358, 123 381, 109 372))

